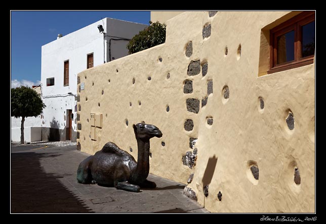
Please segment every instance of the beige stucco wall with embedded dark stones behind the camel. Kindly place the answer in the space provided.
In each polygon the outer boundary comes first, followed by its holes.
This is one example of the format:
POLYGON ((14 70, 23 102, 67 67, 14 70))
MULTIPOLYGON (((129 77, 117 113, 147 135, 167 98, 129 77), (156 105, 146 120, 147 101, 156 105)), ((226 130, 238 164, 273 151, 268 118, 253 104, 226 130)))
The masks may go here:
POLYGON ((112 141, 128 152, 131 147, 137 159, 132 125, 145 121, 163 133, 162 138, 151 139, 150 173, 185 184, 194 173, 187 187, 208 210, 314 212, 314 64, 271 75, 260 72, 261 62, 269 57, 268 47, 262 47, 266 41, 262 29, 295 14, 218 12, 209 17, 208 12, 186 12, 168 21, 166 43, 79 73, 78 88, 85 84, 84 90, 78 90, 77 102, 81 150, 94 154, 112 141), (211 35, 203 39, 202 29, 208 23, 211 35), (188 58, 189 41, 193 50, 188 58), (208 63, 206 76, 187 75, 188 65, 196 60, 208 63), (190 94, 183 92, 186 79, 193 81, 190 94), (207 105, 200 105, 198 114, 187 111, 187 98, 201 101, 207 96, 208 80, 213 80, 213 93, 207 105), (229 87, 228 100, 223 98, 224 86, 229 87), (289 110, 295 119, 293 130, 286 122, 289 110), (103 114, 97 141, 90 138, 91 113, 103 114), (208 117, 214 119, 211 126, 208 117), (187 119, 194 123, 190 132, 184 130, 187 119), (182 163, 182 156, 192 151, 190 137, 198 138, 193 169, 182 163), (259 168, 259 180, 251 174, 252 164, 259 168), (300 185, 294 183, 296 167, 300 185), (208 197, 203 195, 203 184, 209 185, 208 197))

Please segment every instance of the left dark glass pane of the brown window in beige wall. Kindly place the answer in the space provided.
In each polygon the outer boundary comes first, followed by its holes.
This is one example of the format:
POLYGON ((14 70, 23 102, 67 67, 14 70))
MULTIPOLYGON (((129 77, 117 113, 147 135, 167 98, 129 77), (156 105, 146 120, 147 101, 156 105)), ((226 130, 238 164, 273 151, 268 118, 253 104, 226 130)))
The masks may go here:
POLYGON ((294 30, 277 37, 277 65, 294 60, 294 30))

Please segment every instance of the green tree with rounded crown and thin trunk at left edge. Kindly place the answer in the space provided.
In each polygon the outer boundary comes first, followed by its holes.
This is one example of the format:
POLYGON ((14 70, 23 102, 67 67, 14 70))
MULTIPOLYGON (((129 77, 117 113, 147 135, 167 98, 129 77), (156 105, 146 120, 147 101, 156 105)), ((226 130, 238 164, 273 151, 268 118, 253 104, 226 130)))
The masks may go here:
POLYGON ((20 143, 24 144, 24 122, 27 117, 37 117, 43 113, 46 105, 33 89, 20 86, 11 88, 11 117, 21 119, 20 143))

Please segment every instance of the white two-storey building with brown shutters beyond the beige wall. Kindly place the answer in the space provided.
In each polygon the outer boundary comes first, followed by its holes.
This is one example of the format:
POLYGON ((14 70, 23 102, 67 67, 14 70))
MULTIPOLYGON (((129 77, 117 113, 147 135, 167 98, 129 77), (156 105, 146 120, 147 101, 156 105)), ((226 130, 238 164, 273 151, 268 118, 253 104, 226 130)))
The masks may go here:
MULTIPOLYGON (((75 141, 77 74, 128 55, 129 40, 146 26, 105 18, 43 45, 41 88, 47 107, 43 115, 26 118, 25 141, 75 141)), ((12 141, 20 141, 20 121, 12 118, 12 141)))

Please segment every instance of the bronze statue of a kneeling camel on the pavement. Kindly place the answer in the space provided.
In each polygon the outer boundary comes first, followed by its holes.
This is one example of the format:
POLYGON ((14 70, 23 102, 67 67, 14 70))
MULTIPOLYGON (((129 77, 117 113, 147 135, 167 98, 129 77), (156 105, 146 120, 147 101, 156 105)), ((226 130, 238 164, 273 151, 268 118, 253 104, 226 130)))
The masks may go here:
POLYGON ((146 180, 149 173, 149 139, 162 137, 154 125, 139 123, 133 125, 137 144, 138 161, 128 152, 112 142, 106 143, 94 155, 80 162, 77 181, 101 186, 114 186, 116 189, 139 192, 140 188, 155 188, 154 182, 146 180))

